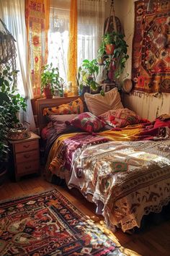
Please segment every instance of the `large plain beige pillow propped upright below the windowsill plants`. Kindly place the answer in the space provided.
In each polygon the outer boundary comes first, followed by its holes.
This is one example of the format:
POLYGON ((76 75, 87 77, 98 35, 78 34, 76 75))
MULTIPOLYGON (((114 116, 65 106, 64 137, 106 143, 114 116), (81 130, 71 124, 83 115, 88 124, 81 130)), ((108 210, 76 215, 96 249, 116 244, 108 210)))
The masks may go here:
POLYGON ((84 100, 88 110, 96 116, 99 116, 110 109, 123 108, 120 93, 117 91, 117 88, 104 93, 104 96, 100 93, 84 93, 84 100))

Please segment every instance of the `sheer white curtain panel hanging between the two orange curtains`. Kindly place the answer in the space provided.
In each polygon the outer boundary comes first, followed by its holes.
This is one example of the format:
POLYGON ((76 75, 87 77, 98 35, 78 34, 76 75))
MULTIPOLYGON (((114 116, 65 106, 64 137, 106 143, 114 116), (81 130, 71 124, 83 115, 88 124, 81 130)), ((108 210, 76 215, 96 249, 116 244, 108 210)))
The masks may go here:
POLYGON ((67 54, 69 42, 70 0, 63 5, 60 1, 50 1, 50 27, 48 33, 48 64, 58 67, 60 76, 66 82, 67 54))

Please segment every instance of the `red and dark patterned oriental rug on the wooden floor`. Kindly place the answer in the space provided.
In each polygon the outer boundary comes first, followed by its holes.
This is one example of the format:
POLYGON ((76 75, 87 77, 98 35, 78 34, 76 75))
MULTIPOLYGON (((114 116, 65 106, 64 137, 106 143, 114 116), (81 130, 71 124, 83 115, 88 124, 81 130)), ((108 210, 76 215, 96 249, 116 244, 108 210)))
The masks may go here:
POLYGON ((0 255, 122 255, 56 189, 0 203, 0 255))

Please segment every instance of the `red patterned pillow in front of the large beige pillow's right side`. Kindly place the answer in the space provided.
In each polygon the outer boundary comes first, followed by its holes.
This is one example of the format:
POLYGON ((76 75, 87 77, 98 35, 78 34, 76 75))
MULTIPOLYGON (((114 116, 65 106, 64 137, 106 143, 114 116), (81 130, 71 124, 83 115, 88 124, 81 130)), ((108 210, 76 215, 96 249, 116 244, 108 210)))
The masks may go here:
POLYGON ((120 108, 117 110, 109 110, 99 116, 107 124, 112 127, 126 127, 127 125, 139 124, 148 120, 142 119, 128 108, 120 108))

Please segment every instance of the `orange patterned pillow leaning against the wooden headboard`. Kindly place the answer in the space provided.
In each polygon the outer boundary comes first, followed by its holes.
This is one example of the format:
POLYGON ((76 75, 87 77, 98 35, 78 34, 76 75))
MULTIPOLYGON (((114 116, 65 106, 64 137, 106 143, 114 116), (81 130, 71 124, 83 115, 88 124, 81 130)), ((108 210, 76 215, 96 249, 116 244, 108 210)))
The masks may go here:
POLYGON ((43 115, 63 115, 63 114, 80 114, 84 112, 84 103, 81 98, 71 101, 68 104, 62 104, 60 106, 52 108, 44 108, 43 115))

